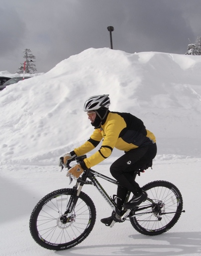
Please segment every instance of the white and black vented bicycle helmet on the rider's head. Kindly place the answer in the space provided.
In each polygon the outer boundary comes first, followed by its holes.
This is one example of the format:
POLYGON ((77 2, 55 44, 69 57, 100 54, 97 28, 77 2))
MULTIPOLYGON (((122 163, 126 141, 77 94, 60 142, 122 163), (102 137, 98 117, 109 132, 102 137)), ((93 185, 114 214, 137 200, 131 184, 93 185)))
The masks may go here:
POLYGON ((88 98, 84 103, 84 111, 98 110, 101 108, 109 108, 110 98, 109 94, 96 95, 88 98))

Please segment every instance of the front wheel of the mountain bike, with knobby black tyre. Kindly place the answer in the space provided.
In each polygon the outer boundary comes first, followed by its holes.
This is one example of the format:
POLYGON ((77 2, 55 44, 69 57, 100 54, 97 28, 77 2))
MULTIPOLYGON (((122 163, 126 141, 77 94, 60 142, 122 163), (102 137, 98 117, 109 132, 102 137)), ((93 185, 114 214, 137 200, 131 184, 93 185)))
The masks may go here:
POLYGON ((70 220, 62 223, 62 216, 73 189, 56 190, 42 198, 33 209, 29 228, 33 239, 49 250, 65 250, 81 243, 91 232, 96 220, 93 201, 80 192, 70 220))

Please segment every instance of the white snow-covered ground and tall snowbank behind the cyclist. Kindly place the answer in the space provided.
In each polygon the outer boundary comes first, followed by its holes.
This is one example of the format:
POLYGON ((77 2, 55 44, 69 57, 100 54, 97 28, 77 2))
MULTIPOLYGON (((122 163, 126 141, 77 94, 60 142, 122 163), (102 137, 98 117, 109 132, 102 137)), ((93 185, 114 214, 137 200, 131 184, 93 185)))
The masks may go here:
MULTIPOLYGON (((201 56, 87 49, 9 85, 0 92, 0 108, 0 256, 201 256, 201 56), (110 110, 136 115, 157 137, 153 170, 138 177, 139 184, 174 183, 186 213, 156 237, 137 233, 129 221, 110 229, 100 223, 111 214, 109 205, 86 186, 97 210, 93 231, 75 248, 45 250, 29 233, 30 214, 44 195, 74 185, 68 185, 66 170, 60 172, 58 158, 93 132, 85 100, 107 93, 110 110)), ((110 176, 109 166, 120 155, 114 151, 93 169, 110 176)))

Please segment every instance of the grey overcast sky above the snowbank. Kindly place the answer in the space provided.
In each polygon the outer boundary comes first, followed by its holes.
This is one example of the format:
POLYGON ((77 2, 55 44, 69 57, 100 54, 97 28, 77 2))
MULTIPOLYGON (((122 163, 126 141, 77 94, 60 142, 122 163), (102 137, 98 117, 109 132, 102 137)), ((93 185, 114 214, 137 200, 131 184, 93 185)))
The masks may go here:
POLYGON ((23 50, 37 72, 88 48, 185 54, 201 36, 201 0, 1 0, 0 71, 15 72, 23 50), (190 40, 190 41, 189 41, 190 40))

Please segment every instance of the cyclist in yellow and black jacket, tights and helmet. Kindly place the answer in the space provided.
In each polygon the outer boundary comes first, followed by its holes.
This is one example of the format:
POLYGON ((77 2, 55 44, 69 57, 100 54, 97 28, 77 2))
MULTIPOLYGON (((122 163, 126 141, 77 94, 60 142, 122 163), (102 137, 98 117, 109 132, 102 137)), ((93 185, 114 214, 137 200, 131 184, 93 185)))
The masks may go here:
MULTIPOLYGON (((102 140, 97 152, 68 170, 67 176, 71 175, 74 179, 78 179, 84 170, 108 158, 114 148, 123 150, 125 154, 111 165, 110 172, 121 184, 117 189, 117 207, 122 209, 129 190, 133 193, 133 197, 123 207, 134 209, 147 199, 147 193, 134 179, 134 170, 152 165, 157 153, 156 138, 146 129, 142 120, 130 113, 112 112, 109 110, 109 105, 109 94, 92 96, 86 100, 84 111, 87 112, 95 130, 83 145, 65 154, 62 159, 66 165, 67 160, 88 153, 102 140)), ((112 215, 102 219, 101 222, 110 226, 113 219, 112 215)))

